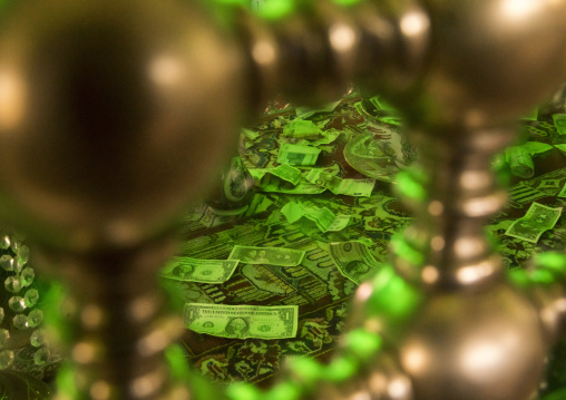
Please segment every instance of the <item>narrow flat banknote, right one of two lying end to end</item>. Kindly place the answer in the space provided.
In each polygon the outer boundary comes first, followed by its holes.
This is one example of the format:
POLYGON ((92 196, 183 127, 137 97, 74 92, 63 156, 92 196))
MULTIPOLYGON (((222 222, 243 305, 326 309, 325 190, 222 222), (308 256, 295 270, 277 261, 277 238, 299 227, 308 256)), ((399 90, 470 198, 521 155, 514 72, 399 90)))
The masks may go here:
POLYGON ((235 245, 228 260, 240 260, 245 264, 267 264, 296 266, 301 264, 304 252, 285 247, 252 247, 235 245))

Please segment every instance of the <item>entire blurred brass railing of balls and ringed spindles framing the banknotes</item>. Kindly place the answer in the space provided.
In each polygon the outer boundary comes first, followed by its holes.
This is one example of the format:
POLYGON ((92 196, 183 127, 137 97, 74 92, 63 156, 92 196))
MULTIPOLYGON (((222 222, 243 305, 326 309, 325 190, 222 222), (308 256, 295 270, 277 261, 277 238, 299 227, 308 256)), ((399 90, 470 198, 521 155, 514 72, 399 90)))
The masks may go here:
POLYGON ((196 2, 4 6, 0 218, 72 290, 61 332, 76 368, 59 398, 218 396, 163 360, 180 325, 162 315, 153 277, 175 218, 235 144, 241 109, 280 88, 328 99, 357 78, 387 95, 419 148, 423 170, 398 177, 414 224, 360 285, 328 367, 296 361, 266 394, 226 396, 530 399, 563 329, 566 261, 508 279, 484 225, 507 198, 492 156, 564 81, 566 0, 266 1, 269 25, 222 3, 233 39, 196 2))

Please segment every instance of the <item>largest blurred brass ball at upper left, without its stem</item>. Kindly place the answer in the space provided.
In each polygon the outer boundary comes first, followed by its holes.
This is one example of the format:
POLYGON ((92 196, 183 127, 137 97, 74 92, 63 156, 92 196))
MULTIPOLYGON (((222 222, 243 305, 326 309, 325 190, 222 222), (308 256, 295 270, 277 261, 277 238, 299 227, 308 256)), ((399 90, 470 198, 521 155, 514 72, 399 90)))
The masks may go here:
POLYGON ((236 143, 234 42, 183 1, 30 1, 1 17, 2 221, 74 252, 167 232, 236 143))

